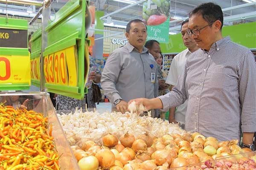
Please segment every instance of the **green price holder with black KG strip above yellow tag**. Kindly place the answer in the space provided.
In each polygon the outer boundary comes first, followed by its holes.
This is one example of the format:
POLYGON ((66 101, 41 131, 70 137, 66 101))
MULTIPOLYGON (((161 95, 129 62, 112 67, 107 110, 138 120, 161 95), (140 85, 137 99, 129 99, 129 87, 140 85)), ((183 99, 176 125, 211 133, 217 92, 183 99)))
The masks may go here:
POLYGON ((27 20, 0 18, 0 91, 30 87, 27 29, 27 20))

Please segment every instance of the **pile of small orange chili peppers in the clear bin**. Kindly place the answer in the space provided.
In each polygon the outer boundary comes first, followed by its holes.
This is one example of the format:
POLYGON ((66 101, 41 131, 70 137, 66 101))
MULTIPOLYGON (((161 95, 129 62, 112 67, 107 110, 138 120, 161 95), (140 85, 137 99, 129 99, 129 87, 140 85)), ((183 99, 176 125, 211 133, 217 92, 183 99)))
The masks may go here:
POLYGON ((59 170, 58 159, 47 117, 0 106, 0 170, 59 170))

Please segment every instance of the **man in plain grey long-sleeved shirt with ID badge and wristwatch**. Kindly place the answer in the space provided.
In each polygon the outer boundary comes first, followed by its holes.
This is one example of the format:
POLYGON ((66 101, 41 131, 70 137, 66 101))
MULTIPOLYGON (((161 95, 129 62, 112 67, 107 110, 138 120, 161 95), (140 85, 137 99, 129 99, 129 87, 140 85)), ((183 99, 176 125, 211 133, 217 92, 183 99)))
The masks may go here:
MULTIPOLYGON (((144 47, 147 27, 141 20, 131 20, 126 26, 125 37, 127 44, 109 55, 101 79, 112 111, 122 113, 128 110, 127 102, 131 99, 158 96, 157 63, 144 47)), ((151 116, 154 114, 152 111, 151 116)))

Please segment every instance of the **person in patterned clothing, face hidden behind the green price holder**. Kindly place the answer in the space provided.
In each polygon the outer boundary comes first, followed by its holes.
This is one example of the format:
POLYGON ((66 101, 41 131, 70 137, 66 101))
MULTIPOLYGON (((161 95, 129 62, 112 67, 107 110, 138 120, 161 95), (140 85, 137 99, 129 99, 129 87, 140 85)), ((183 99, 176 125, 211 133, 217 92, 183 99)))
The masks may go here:
MULTIPOLYGON (((90 57, 90 67, 94 64, 93 58, 90 57)), ((57 95, 56 97, 56 110, 74 110, 76 107, 85 108, 87 104, 87 108, 96 108, 96 102, 99 104, 99 100, 101 98, 100 89, 97 85, 101 79, 101 71, 96 68, 95 72, 91 72, 89 75, 89 79, 93 80, 93 85, 88 89, 87 94, 85 94, 84 99, 74 99, 71 97, 57 95)))

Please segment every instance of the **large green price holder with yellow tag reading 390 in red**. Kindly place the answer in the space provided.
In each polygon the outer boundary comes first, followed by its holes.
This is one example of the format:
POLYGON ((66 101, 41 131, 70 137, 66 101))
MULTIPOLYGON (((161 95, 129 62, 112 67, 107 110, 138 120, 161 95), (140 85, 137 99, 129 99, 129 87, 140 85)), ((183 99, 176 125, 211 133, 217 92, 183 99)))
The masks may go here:
POLYGON ((76 99, 83 99, 87 93, 84 89, 90 63, 85 55, 90 45, 85 32, 85 23, 90 23, 85 21, 87 3, 70 0, 46 27, 48 46, 43 57, 45 87, 49 92, 76 99))

